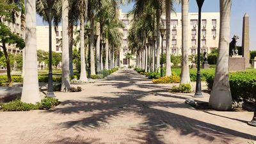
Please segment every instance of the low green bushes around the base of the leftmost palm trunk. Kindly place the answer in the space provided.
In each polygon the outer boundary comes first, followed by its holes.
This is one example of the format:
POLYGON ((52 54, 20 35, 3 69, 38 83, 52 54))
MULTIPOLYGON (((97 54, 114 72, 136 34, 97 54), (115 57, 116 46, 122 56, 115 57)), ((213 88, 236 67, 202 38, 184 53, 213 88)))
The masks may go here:
POLYGON ((44 98, 41 102, 36 104, 28 104, 20 101, 20 99, 13 100, 12 102, 8 102, 6 104, 2 104, 0 107, 3 111, 30 111, 35 109, 50 109, 55 106, 58 106, 60 101, 55 98, 44 98))

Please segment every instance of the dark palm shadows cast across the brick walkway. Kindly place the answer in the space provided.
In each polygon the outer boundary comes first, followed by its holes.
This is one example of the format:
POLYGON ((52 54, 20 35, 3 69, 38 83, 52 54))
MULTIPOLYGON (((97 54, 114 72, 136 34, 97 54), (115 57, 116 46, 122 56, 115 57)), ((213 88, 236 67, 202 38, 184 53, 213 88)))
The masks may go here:
MULTIPOLYGON (((159 136, 159 132, 166 131, 166 129, 170 128, 179 132, 180 136, 189 135, 191 138, 202 138, 209 141, 209 143, 216 140, 216 138, 221 138, 221 140, 227 143, 234 140, 236 137, 256 140, 255 136, 251 134, 220 127, 218 125, 189 118, 188 116, 163 110, 163 108, 191 108, 183 102, 143 101, 142 99, 149 95, 148 89, 154 92, 154 90, 161 91, 164 90, 164 88, 154 84, 138 83, 138 81, 145 81, 145 78, 141 77, 141 80, 139 80, 140 77, 137 77, 138 75, 134 74, 134 72, 128 72, 136 77, 136 79, 132 80, 125 72, 126 71, 122 71, 122 73, 116 77, 108 77, 110 82, 103 82, 104 84, 111 84, 111 86, 120 88, 124 91, 111 93, 111 96, 115 97, 95 95, 94 97, 86 98, 87 100, 67 100, 62 102, 63 105, 67 105, 64 108, 52 109, 52 113, 61 113, 65 115, 81 112, 90 112, 92 114, 79 120, 64 122, 61 124, 61 127, 64 129, 76 129, 76 131, 96 129, 102 127, 102 125, 108 124, 109 120, 112 120, 115 116, 136 113, 136 115, 145 118, 143 124, 138 124, 135 127, 129 128, 132 131, 138 131, 145 134, 143 137, 138 137, 136 139, 131 138, 131 140, 134 141, 138 140, 138 143, 141 140, 145 140, 147 143, 164 143, 163 138, 159 136), (119 81, 122 81, 122 83, 119 81), (136 84, 138 88, 136 88, 136 90, 127 89, 127 87, 130 86, 129 84, 136 84), (88 101, 88 99, 90 99, 90 101, 88 101)), ((184 99, 178 96, 173 97, 184 99)))

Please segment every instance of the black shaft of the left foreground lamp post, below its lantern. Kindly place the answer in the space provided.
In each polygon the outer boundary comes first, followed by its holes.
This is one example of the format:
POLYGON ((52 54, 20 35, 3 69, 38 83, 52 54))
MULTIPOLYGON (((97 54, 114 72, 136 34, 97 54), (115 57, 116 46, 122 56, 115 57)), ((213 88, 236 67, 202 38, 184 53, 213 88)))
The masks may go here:
POLYGON ((48 90, 47 97, 56 97, 53 93, 53 85, 52 85, 52 8, 49 8, 48 15, 49 22, 49 74, 48 74, 48 90))

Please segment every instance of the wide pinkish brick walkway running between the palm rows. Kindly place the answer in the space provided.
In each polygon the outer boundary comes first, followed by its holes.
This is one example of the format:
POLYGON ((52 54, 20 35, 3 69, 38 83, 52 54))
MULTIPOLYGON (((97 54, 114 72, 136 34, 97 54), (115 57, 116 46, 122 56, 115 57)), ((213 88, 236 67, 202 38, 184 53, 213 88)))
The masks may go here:
MULTIPOLYGON (((197 111, 191 94, 167 92, 133 70, 56 93, 51 111, 0 112, 0 143, 248 143, 256 128, 249 112, 197 111)), ((209 95, 204 93, 204 99, 209 95)))

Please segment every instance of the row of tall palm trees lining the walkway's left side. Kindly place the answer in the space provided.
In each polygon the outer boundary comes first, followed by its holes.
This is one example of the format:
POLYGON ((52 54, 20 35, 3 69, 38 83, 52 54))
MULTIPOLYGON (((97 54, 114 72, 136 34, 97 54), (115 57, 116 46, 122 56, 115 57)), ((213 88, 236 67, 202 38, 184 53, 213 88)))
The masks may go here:
MULTIPOLYGON (((24 1, 10 0, 10 3, 21 5, 24 1)), ((108 70, 109 68, 115 67, 115 55, 118 53, 118 47, 120 47, 122 42, 122 33, 119 29, 122 28, 123 24, 118 19, 118 5, 121 3, 124 3, 124 1, 54 1, 52 6, 54 9, 52 20, 56 31, 58 25, 62 23, 61 92, 68 92, 70 90, 70 75, 74 75, 72 63, 72 49, 74 45, 73 29, 78 24, 80 28, 79 48, 81 52, 80 80, 82 82, 88 81, 86 76, 86 59, 90 60, 90 75, 95 75, 104 68, 108 70), (84 28, 86 28, 86 31, 84 28), (95 36, 97 36, 97 43, 94 44, 95 36), (101 39, 104 39, 106 42, 106 51, 104 52, 105 63, 102 60, 103 52, 100 50, 101 39), (85 56, 86 47, 89 52, 87 58, 85 56)), ((26 28, 26 48, 24 51, 24 82, 21 100, 22 102, 35 104, 40 101, 36 57, 36 13, 43 17, 45 21, 48 20, 44 12, 45 8, 47 8, 47 0, 27 0, 24 4, 25 9, 22 15, 26 15, 26 25, 24 22, 24 28, 26 28)))

